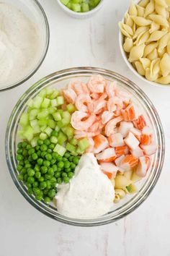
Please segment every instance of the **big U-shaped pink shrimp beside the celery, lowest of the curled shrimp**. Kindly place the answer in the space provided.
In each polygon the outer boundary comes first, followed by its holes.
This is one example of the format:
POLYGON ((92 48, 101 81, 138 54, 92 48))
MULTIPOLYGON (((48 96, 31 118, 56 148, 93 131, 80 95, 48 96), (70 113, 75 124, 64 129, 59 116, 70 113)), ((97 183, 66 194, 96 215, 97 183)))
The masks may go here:
POLYGON ((96 120, 96 115, 91 114, 90 116, 83 111, 75 111, 71 116, 71 125, 74 129, 86 131, 96 120), (85 119, 82 121, 82 119, 85 119))

